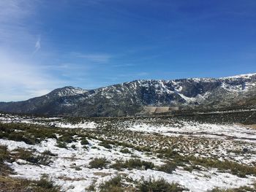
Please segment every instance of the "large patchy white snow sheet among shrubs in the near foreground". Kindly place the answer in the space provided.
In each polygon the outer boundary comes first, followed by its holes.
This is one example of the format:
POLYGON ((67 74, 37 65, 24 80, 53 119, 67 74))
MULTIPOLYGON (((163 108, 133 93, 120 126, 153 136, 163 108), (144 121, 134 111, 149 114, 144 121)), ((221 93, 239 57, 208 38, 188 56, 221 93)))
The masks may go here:
MULTIPOLYGON (((38 166, 26 163, 26 161, 15 161, 9 166, 15 170, 16 174, 12 177, 22 177, 29 180, 39 180, 43 174, 48 174, 51 180, 57 185, 60 185, 63 191, 85 191, 91 183, 96 181, 96 185, 109 180, 116 174, 127 174, 127 177, 132 180, 140 181, 142 178, 148 180, 149 178, 164 178, 168 182, 179 183, 188 188, 189 191, 207 191, 214 187, 234 188, 243 185, 252 184, 256 177, 241 178, 233 174, 220 173, 217 169, 207 169, 205 171, 187 172, 182 168, 176 169, 173 174, 165 172, 158 172, 155 170, 127 170, 117 171, 115 169, 89 169, 89 161, 94 157, 105 157, 110 162, 118 159, 128 159, 131 155, 120 153, 120 147, 113 150, 107 150, 99 146, 98 140, 89 140, 89 150, 85 150, 80 145, 80 142, 73 142, 70 145, 76 145, 76 149, 64 149, 56 147, 55 139, 48 139, 40 145, 27 145, 24 142, 14 142, 0 139, 0 145, 7 145, 8 150, 15 150, 18 147, 24 149, 35 149, 36 153, 42 153, 45 150, 50 150, 57 156, 53 158, 53 163, 50 166, 38 166), (94 147, 92 147, 94 146, 94 147), (76 170, 74 167, 79 167, 76 170)), ((70 146, 69 145, 69 146, 70 146)), ((132 150, 132 149, 130 149, 132 150)), ((143 161, 151 161, 154 164, 163 164, 158 158, 147 156, 142 152, 134 151, 138 158, 143 161)))

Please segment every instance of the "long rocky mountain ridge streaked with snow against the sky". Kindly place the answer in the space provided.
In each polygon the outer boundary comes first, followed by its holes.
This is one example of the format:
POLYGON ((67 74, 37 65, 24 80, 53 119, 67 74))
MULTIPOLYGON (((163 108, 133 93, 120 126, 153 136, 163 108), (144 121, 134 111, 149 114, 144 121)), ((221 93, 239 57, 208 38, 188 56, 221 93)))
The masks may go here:
POLYGON ((0 111, 70 116, 136 115, 146 106, 180 109, 256 105, 256 74, 225 78, 135 80, 94 90, 64 87, 45 96, 1 102, 0 111))

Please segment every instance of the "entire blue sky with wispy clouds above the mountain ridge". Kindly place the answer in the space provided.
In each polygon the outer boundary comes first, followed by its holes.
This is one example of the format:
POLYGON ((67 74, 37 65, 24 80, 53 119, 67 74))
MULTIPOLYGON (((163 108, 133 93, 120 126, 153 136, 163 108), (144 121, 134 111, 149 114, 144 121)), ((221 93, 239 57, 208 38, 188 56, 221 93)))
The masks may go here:
POLYGON ((256 72, 256 1, 1 0, 0 101, 256 72))

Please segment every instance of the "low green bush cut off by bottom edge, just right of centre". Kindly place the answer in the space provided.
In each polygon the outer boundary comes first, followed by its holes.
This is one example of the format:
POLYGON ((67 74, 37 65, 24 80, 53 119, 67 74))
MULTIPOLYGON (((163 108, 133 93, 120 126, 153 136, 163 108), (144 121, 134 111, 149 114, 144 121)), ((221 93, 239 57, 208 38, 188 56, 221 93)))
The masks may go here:
POLYGON ((167 183, 164 179, 160 180, 143 180, 138 185, 139 192, 181 192, 184 188, 181 188, 177 183, 167 183))

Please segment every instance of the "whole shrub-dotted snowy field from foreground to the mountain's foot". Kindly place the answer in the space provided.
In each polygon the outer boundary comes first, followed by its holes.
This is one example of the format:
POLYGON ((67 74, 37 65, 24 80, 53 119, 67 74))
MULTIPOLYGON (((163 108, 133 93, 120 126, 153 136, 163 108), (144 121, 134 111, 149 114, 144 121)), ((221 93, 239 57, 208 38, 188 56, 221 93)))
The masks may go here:
POLYGON ((256 129, 243 124, 173 118, 70 119, 5 114, 0 115, 0 121, 2 125, 22 125, 13 134, 21 132, 24 137, 31 137, 32 129, 23 128, 31 125, 35 130, 45 128, 54 134, 42 138, 37 134, 39 141, 33 144, 13 139, 16 137, 1 137, 0 145, 7 146, 12 155, 20 153, 20 149, 37 157, 50 152, 51 155, 46 155, 47 164, 26 158, 4 164, 13 170, 11 177, 40 180, 46 175, 61 191, 90 191, 91 185, 100 191, 102 183, 117 175, 121 175, 123 191, 135 191, 143 180, 161 178, 167 183, 178 183, 183 191, 193 192, 217 187, 253 188, 256 180, 256 129), (104 164, 92 166, 90 162, 95 158, 104 160, 104 164), (150 162, 151 167, 146 168, 146 163, 125 164, 129 160, 150 162), (170 161, 175 164, 172 171, 165 166, 170 161))

